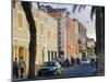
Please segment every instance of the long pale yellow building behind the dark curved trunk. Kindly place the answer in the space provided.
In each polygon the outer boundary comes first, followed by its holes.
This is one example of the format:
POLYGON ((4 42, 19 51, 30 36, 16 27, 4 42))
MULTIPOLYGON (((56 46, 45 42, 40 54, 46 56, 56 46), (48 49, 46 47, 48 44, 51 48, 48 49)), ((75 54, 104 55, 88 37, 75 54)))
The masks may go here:
MULTIPOLYGON (((36 65, 43 65, 44 61, 53 60, 58 57, 58 33, 57 21, 47 13, 33 9, 33 16, 37 28, 37 42, 36 42, 36 65)), ((29 45, 29 32, 28 23, 25 17, 25 13, 20 2, 16 2, 13 8, 13 60, 16 57, 23 56, 26 62, 26 73, 28 71, 28 45, 29 45)))

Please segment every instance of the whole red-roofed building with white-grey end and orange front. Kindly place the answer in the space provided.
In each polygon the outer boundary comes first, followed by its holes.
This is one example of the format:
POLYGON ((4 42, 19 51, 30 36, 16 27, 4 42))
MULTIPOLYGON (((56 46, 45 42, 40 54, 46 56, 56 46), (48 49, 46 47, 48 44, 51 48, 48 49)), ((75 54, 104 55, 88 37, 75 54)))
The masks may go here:
POLYGON ((78 56, 78 22, 69 16, 66 9, 45 7, 48 14, 58 21, 58 51, 63 59, 80 58, 78 56))

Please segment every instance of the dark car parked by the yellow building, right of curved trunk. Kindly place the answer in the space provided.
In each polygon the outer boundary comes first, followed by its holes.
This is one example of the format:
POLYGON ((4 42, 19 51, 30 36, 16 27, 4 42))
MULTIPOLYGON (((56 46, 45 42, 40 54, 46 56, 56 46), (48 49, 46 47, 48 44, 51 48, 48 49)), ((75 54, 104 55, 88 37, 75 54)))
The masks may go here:
POLYGON ((62 68, 57 61, 46 61, 38 70, 38 75, 56 75, 61 74, 62 68))

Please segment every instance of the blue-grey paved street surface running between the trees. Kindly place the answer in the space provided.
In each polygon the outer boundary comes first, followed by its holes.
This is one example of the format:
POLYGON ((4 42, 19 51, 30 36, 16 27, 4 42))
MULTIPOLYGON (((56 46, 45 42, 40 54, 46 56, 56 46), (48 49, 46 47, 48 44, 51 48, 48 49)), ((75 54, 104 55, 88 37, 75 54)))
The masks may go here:
POLYGON ((88 66, 74 66, 74 67, 66 67, 63 69, 60 75, 53 77, 37 77, 38 80, 44 79, 64 79, 64 78, 81 78, 81 77, 94 77, 96 75, 96 69, 88 66))

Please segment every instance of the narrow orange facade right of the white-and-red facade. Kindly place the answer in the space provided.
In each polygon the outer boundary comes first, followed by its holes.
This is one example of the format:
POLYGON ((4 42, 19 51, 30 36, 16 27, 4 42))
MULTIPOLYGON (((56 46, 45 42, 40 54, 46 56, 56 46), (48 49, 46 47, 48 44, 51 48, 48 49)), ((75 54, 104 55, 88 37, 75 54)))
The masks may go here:
POLYGON ((74 58, 74 25, 71 17, 66 17, 66 58, 71 61, 71 57, 74 58))

